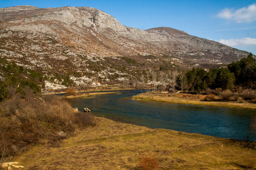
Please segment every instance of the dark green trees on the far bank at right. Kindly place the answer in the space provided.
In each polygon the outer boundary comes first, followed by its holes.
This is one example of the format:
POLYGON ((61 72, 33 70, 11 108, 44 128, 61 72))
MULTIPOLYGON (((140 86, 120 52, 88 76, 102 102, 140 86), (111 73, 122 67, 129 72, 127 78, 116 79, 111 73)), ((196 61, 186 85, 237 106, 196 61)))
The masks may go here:
POLYGON ((253 54, 240 61, 232 62, 228 67, 210 69, 206 71, 200 68, 193 68, 185 73, 185 76, 177 76, 177 88, 183 87, 192 92, 221 88, 230 90, 232 88, 256 89, 256 63, 253 54))

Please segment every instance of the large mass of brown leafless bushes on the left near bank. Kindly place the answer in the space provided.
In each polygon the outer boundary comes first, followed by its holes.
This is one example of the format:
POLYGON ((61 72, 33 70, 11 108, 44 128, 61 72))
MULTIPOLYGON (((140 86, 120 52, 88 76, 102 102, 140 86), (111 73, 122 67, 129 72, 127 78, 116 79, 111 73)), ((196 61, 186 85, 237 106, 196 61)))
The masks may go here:
POLYGON ((28 88, 24 99, 14 93, 1 103, 0 111, 1 158, 16 155, 30 144, 56 144, 77 127, 95 126, 92 114, 74 112, 63 97, 34 95, 28 88))

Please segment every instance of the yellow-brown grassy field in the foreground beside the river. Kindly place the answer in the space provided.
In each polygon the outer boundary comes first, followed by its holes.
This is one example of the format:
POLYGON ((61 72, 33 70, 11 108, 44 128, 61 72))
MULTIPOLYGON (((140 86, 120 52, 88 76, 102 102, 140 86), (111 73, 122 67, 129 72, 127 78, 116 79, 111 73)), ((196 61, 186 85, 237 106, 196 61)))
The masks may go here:
POLYGON ((156 162, 153 169, 256 168, 253 142, 150 129, 100 117, 96 121, 95 127, 77 130, 54 146, 32 146, 12 162, 23 169, 146 169, 152 162, 156 162))

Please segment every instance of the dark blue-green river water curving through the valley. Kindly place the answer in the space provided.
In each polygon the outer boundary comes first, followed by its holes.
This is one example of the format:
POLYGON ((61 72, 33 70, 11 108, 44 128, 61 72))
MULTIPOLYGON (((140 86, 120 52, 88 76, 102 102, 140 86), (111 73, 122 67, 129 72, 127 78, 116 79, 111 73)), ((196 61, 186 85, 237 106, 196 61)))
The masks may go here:
POLYGON ((115 121, 148 128, 255 141, 255 134, 251 133, 251 124, 253 118, 256 118, 255 109, 132 100, 131 96, 140 92, 129 90, 118 94, 96 95, 90 99, 76 97, 68 100, 72 107, 80 111, 86 107, 94 116, 115 121))

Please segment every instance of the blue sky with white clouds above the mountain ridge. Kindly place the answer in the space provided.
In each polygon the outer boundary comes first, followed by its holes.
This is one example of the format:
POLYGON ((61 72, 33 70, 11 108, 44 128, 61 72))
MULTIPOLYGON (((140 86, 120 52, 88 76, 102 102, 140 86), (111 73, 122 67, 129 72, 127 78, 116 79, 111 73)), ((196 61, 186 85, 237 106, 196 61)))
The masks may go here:
POLYGON ((0 0, 0 8, 19 5, 94 7, 128 27, 171 27, 256 55, 255 0, 0 0))

